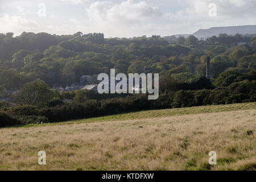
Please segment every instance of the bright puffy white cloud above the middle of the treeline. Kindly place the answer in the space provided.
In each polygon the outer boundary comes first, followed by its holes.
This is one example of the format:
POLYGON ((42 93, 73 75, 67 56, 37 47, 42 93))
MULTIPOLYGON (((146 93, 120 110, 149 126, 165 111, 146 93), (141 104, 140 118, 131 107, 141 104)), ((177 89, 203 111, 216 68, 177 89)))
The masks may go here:
POLYGON ((107 37, 146 34, 152 31, 152 24, 154 24, 152 22, 162 18, 162 11, 159 7, 144 1, 133 0, 121 3, 97 1, 92 3, 86 12, 90 20, 89 30, 104 32, 107 37))

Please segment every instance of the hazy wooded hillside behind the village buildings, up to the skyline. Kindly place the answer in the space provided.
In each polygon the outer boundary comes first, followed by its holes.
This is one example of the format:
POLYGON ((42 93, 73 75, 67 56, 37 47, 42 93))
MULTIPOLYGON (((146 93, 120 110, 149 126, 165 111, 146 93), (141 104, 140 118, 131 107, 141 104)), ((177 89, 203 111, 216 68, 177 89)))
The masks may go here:
MULTIPOLYGON (((13 59, 0 61, 0 85, 4 85, 7 90, 20 89, 26 82, 36 78, 40 78, 51 87, 56 84, 64 87, 78 82, 81 75, 109 73, 110 68, 117 69, 117 73, 156 72, 164 75, 189 72, 205 75, 205 63, 200 63, 199 60, 200 56, 208 54, 209 51, 213 56, 221 56, 220 54, 224 53, 232 60, 213 63, 213 78, 217 78, 225 68, 236 67, 239 59, 239 68, 255 69, 256 65, 252 56, 255 52, 250 46, 236 47, 233 52, 230 52, 232 49, 226 50, 226 44, 254 40, 241 35, 223 34, 200 41, 195 36, 189 36, 185 43, 186 46, 196 47, 193 49, 177 44, 169 45, 160 36, 104 39, 103 34, 84 35, 82 32, 63 36, 23 32, 15 38, 5 34, 0 38, 3 40, 0 42, 0 58, 13 59), (5 45, 7 42, 11 46, 5 45), (200 48, 203 45, 208 47, 208 44, 214 44, 208 48, 209 51, 200 48)), ((184 40, 180 37, 177 43, 183 44, 184 40)))

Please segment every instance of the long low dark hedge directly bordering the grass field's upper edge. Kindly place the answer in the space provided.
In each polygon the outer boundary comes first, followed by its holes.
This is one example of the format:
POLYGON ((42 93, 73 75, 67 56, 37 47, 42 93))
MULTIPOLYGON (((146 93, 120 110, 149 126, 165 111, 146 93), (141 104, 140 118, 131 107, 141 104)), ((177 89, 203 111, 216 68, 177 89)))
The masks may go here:
MULTIPOLYGON (((212 90, 178 90, 164 92, 158 100, 150 101, 146 94, 136 94, 123 98, 107 100, 87 100, 82 104, 64 104, 39 108, 23 105, 10 107, 8 114, 17 120, 10 120, 9 126, 17 124, 31 124, 37 122, 60 122, 71 119, 81 119, 127 113, 131 111, 167 109, 172 107, 191 107, 201 105, 234 104, 242 102, 256 102, 256 92, 247 94, 234 93, 227 88, 212 90), (13 122, 16 121, 16 122, 13 122)), ((5 122, 8 122, 7 120, 5 122)))

